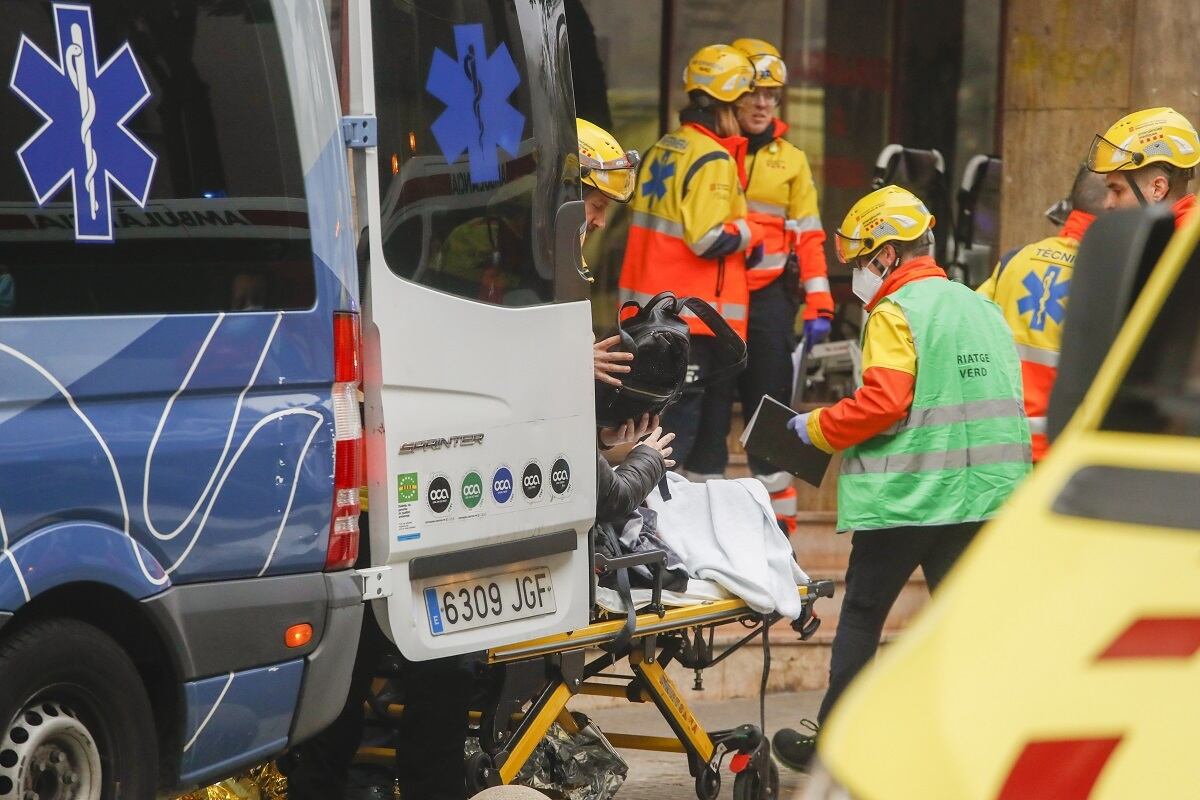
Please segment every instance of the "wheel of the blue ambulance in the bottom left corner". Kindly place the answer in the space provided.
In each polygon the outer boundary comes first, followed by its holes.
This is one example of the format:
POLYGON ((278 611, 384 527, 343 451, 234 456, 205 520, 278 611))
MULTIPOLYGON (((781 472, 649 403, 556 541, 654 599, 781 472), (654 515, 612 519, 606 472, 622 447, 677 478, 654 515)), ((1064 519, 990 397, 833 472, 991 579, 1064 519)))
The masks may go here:
POLYGON ((133 662, 98 628, 42 620, 0 643, 0 800, 154 800, 157 740, 133 662))

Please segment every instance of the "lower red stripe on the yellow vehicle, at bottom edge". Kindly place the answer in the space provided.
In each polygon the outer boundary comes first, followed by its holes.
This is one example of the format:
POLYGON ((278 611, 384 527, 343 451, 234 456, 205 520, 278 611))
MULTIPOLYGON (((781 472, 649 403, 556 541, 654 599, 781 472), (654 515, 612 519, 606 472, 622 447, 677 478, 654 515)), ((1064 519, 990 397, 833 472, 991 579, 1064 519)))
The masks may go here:
POLYGON ((1086 800, 1121 736, 1031 741, 997 800, 1086 800))

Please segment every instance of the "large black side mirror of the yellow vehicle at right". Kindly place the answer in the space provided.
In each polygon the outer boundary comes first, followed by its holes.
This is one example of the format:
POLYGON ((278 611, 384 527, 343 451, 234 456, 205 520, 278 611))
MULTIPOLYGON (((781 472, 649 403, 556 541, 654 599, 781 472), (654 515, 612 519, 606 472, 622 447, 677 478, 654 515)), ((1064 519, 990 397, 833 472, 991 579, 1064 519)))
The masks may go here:
POLYGON ((1175 218, 1166 205, 1112 211, 1087 229, 1075 257, 1058 379, 1046 413, 1051 443, 1082 402, 1174 233, 1175 218))

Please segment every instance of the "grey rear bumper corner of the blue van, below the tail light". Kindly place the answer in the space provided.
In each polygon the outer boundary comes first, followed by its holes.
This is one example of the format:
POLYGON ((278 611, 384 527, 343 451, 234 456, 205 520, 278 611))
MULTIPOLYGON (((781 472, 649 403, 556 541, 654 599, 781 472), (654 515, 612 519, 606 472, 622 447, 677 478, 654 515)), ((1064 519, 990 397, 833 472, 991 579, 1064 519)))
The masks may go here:
POLYGON ((346 705, 362 632, 362 584, 353 570, 325 575, 329 613, 320 644, 306 658, 289 745, 320 733, 346 705))

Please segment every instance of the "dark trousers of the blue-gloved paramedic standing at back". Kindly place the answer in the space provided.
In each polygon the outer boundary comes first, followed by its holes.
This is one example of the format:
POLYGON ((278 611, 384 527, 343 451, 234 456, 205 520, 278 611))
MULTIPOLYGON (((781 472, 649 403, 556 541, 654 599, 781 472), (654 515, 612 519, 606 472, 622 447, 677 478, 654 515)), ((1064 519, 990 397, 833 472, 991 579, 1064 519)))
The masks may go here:
MULTIPOLYGON (((746 331, 746 368, 738 375, 742 419, 750 422, 758 401, 770 395, 784 405, 792 402, 792 351, 796 349, 796 313, 800 306, 787 289, 785 276, 750 293, 746 331)), ((754 475, 778 473, 761 458, 749 457, 754 475)))

